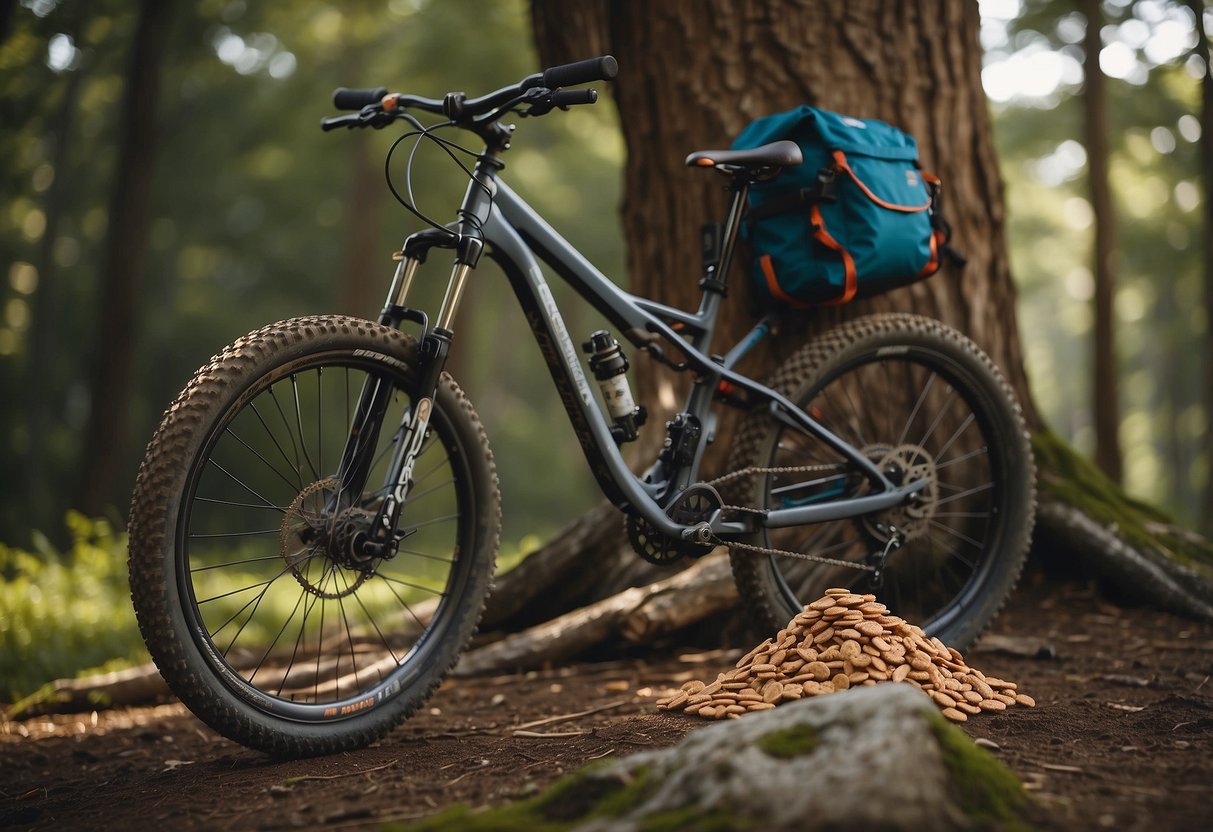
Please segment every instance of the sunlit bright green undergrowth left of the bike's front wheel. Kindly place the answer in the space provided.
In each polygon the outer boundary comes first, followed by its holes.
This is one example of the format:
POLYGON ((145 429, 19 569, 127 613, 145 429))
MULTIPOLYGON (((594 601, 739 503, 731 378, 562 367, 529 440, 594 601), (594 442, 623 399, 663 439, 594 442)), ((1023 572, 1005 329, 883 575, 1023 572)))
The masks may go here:
POLYGON ((72 547, 24 552, 0 543, 0 697, 114 659, 147 661, 126 580, 126 536, 70 513, 72 547))

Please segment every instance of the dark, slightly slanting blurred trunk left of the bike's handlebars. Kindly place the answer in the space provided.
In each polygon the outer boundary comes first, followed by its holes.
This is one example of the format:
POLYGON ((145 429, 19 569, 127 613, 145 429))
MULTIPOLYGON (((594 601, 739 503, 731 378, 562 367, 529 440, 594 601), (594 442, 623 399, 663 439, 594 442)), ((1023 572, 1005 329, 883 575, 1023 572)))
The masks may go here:
POLYGON ((126 76, 76 503, 89 514, 99 514, 113 502, 126 458, 126 414, 156 148, 155 107, 172 7, 171 0, 142 0, 126 76))

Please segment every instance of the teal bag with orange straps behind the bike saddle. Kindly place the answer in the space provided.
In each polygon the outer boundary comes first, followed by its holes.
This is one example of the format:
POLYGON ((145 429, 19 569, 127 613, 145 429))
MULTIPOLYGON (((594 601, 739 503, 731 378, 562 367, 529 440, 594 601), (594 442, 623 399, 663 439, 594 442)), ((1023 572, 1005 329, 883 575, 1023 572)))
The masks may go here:
POLYGON ((733 149, 790 139, 804 163, 750 189, 751 277, 771 304, 847 303, 934 274, 947 241, 939 179, 909 133, 797 107, 757 119, 733 149))

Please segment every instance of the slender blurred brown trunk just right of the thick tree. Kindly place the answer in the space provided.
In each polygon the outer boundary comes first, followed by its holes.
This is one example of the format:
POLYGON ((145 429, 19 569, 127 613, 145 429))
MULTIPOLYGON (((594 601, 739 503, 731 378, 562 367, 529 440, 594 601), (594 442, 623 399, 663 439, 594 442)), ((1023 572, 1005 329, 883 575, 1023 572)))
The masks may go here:
POLYGON ((1095 465, 1114 483, 1121 481, 1121 405, 1117 391, 1115 320, 1112 302, 1116 296, 1116 211, 1107 178, 1107 79, 1099 68, 1099 51, 1103 41, 1099 30, 1104 15, 1100 0, 1082 0, 1082 13, 1087 18, 1083 40, 1083 91, 1082 107, 1086 115, 1087 178, 1090 188, 1090 207, 1095 217, 1095 239, 1092 267, 1095 278, 1094 318, 1094 389, 1092 395, 1095 424, 1095 465))

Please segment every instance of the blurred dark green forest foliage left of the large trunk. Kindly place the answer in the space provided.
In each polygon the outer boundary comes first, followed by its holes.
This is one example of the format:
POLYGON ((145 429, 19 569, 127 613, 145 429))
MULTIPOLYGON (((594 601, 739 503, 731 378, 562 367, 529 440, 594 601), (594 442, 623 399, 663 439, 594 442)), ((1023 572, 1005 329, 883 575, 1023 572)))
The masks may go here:
MULTIPOLYGON (((57 526, 76 488, 89 410, 109 405, 104 392, 93 401, 89 369, 103 325, 93 310, 136 8, 18 4, 0 42, 0 384, 27 392, 0 405, 0 467, 15 472, 0 483, 0 540, 10 543, 57 526), (39 348, 39 337, 50 340, 39 348)), ((420 227, 382 183, 387 148, 403 131, 321 132, 332 89, 475 95, 539 69, 523 0, 190 0, 175 4, 173 23, 158 153, 147 160, 155 181, 115 514, 125 513, 164 408, 223 344, 273 320, 332 312, 352 283, 365 283, 370 300, 344 310, 377 313, 389 253, 420 227), (369 169, 364 188, 359 165, 369 169), (368 228, 374 243, 355 239, 368 228), (349 272, 364 251, 365 268, 349 272)), ((609 101, 522 120, 517 136, 506 181, 620 275, 622 142, 609 101)), ((393 164, 398 186, 410 147, 393 164)), ((445 222, 466 179, 427 143, 412 186, 421 210, 445 222)), ((449 260, 431 261, 418 306, 432 307, 445 285, 449 260)), ((564 306, 569 294, 557 297, 564 306)), ((568 312, 575 340, 599 325, 592 310, 568 312)), ((593 483, 491 263, 469 285, 459 324, 451 370, 494 445, 506 536, 549 532, 592 505, 593 483)))

